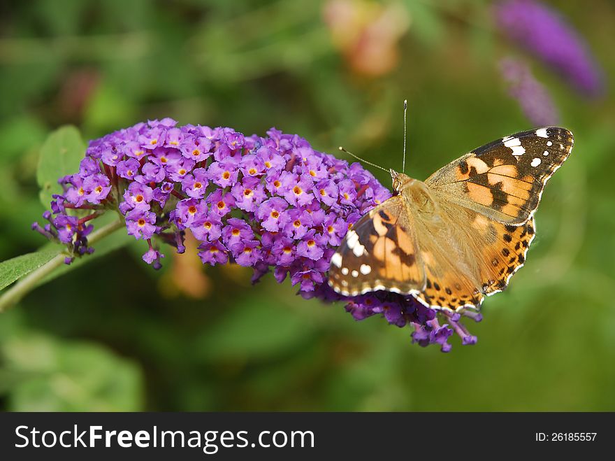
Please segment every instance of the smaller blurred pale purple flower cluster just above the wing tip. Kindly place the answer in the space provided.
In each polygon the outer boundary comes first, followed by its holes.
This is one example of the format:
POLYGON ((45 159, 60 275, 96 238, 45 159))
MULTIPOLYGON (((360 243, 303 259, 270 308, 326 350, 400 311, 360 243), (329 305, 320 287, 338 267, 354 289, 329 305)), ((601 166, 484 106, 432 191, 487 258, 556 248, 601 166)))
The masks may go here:
POLYGON ((509 85, 509 94, 535 127, 559 124, 559 115, 547 88, 534 78, 527 64, 513 58, 502 59, 500 71, 509 85))

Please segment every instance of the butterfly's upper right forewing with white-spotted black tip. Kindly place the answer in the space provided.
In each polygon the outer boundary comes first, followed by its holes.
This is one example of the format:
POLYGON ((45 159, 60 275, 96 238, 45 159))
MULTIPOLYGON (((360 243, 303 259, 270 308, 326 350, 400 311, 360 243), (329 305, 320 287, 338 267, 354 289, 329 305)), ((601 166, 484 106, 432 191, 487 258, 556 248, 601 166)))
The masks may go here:
POLYGON ((425 183, 444 200, 521 225, 536 211, 545 183, 573 143, 572 133, 558 127, 513 134, 451 162, 425 183))

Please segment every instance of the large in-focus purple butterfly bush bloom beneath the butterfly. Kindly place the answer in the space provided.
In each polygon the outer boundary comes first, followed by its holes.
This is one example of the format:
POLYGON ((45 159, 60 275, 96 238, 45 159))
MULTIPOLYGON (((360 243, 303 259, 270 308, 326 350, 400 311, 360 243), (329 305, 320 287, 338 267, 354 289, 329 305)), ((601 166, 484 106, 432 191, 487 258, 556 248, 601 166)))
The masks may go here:
POLYGON ((328 286, 331 256, 349 227, 391 192, 360 164, 318 152, 300 136, 153 120, 90 141, 78 173, 59 183, 64 192, 43 215, 48 224, 33 228, 67 246, 67 263, 92 253, 88 222, 115 210, 127 233, 147 242, 143 260, 155 269, 160 244, 183 253, 191 232, 203 264, 252 267, 253 282, 273 271, 305 298, 346 302, 356 320, 379 315, 412 327, 421 346, 447 351, 454 332, 462 343, 476 341, 458 313, 385 291, 343 297, 328 286))

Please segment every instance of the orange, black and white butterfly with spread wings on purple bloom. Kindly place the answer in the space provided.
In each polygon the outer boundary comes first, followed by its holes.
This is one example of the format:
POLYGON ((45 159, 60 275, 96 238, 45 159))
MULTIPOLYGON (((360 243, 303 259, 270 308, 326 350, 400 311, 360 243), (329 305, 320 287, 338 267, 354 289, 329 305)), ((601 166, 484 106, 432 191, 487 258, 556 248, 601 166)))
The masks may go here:
POLYGON ((544 185, 573 143, 567 129, 545 127, 472 150, 425 181, 391 170, 393 197, 349 229, 328 284, 344 296, 386 290, 436 309, 479 308, 523 266, 544 185))

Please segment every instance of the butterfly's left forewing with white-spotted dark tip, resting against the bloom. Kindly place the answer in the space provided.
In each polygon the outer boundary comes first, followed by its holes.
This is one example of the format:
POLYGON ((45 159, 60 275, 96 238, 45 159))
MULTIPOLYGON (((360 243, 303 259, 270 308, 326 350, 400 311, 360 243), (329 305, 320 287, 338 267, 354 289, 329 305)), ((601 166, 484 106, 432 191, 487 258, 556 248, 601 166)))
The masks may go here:
POLYGON ((348 231, 331 258, 328 283, 345 296, 374 290, 414 293, 425 273, 414 228, 400 196, 372 209, 348 231))

